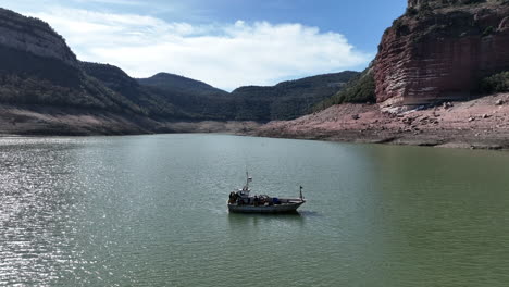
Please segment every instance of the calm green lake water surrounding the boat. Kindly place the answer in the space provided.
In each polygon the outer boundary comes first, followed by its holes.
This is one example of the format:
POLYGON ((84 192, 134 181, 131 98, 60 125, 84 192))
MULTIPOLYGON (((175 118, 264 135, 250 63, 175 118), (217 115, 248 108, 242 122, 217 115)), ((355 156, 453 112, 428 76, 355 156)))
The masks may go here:
POLYGON ((508 286, 509 153, 224 135, 0 139, 0 286, 508 286), (298 215, 228 214, 254 192, 298 215))

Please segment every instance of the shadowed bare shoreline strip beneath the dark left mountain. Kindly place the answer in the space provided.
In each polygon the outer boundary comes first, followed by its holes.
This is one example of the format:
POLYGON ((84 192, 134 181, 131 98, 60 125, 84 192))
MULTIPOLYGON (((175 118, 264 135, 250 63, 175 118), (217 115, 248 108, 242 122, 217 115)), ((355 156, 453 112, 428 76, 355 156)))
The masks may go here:
POLYGON ((98 136, 164 133, 252 133, 256 122, 167 122, 142 116, 55 107, 0 105, 3 136, 98 136))

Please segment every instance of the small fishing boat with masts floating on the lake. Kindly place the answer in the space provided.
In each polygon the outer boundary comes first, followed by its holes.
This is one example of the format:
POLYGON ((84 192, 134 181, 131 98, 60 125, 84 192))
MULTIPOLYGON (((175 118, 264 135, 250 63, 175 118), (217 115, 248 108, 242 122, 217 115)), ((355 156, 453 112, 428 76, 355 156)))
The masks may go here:
POLYGON ((234 213, 291 213, 302 205, 306 200, 302 197, 300 186, 299 198, 277 198, 268 195, 250 196, 249 183, 252 177, 246 172, 246 185, 229 194, 228 211, 234 213))

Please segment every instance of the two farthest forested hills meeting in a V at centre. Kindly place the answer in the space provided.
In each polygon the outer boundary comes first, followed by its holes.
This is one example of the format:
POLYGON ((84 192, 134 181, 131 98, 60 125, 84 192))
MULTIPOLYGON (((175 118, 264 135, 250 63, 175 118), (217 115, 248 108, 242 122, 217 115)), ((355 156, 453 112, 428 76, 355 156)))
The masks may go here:
POLYGON ((291 120, 310 112, 316 102, 340 90, 358 74, 346 71, 283 82, 271 87, 240 87, 231 93, 166 73, 137 82, 195 117, 269 122, 291 120))

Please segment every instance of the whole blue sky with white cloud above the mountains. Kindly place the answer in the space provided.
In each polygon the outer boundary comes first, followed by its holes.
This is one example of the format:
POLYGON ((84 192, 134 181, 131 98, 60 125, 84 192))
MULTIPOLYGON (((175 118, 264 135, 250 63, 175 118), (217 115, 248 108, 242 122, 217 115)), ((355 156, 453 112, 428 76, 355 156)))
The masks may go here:
POLYGON ((48 22, 82 61, 133 77, 173 73, 233 90, 374 59, 407 0, 3 0, 48 22))

